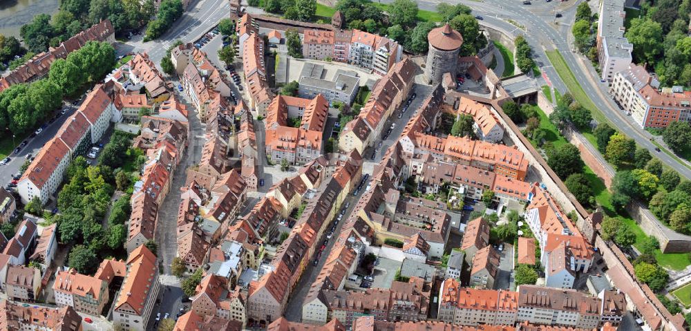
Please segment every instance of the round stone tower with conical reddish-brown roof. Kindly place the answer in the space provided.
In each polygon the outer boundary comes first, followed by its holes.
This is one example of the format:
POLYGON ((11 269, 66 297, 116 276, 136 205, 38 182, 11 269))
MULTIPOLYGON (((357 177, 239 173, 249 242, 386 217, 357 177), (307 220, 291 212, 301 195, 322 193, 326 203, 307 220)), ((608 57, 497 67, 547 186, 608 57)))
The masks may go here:
MULTIPOLYGON (((460 32, 453 30, 448 23, 432 29, 427 35, 430 47, 427 52, 425 77, 428 82, 437 84, 442 82, 444 73, 456 74, 458 52, 463 45, 460 32)), ((455 79, 455 77, 454 77, 455 79)))

